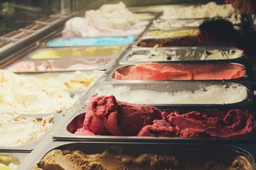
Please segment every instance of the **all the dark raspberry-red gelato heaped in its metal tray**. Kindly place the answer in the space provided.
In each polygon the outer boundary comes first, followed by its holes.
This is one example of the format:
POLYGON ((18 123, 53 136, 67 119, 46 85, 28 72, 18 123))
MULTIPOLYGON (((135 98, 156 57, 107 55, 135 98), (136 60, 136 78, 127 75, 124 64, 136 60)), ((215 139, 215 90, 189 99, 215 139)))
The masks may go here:
MULTIPOLYGON (((79 122, 81 120, 77 123, 79 122)), ((75 134, 232 138, 250 134, 254 127, 255 120, 248 111, 204 110, 167 113, 146 104, 116 101, 114 96, 93 96, 88 104, 83 127, 77 129, 75 134)))

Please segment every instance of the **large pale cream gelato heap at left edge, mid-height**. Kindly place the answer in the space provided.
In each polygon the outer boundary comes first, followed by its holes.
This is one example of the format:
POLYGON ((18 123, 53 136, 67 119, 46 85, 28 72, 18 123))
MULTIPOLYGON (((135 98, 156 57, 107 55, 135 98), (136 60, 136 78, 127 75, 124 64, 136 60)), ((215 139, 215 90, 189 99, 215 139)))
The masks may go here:
POLYGON ((60 113, 78 98, 61 90, 42 90, 33 79, 0 70, 0 113, 60 113))

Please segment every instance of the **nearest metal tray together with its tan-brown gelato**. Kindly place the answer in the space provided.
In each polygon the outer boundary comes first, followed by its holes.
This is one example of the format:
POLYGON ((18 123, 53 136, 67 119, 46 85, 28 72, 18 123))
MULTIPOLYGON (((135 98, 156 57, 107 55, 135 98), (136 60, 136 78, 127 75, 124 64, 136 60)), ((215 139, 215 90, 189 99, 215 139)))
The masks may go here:
MULTIPOLYGON (((47 150, 38 153, 36 162, 31 162, 30 166, 35 165, 33 166, 34 169, 58 168, 62 162, 67 161, 73 167, 86 169, 93 169, 95 166, 108 167, 109 169, 127 167, 132 169, 162 169, 164 167, 182 169, 190 166, 195 167, 195 169, 205 169, 209 166, 224 169, 229 167, 253 169, 255 167, 252 155, 239 146, 202 145, 202 148, 204 149, 201 150, 195 145, 179 144, 148 143, 141 145, 140 143, 59 141, 47 146, 47 150), (214 154, 216 149, 223 150, 223 155, 214 154), (63 158, 60 162, 55 161, 58 155, 63 158), (157 159, 155 155, 161 159, 157 159), (77 157, 78 160, 73 159, 74 157, 77 157), (86 164, 81 166, 79 162, 86 162, 86 164)), ((68 168, 68 166, 65 167, 68 168)))

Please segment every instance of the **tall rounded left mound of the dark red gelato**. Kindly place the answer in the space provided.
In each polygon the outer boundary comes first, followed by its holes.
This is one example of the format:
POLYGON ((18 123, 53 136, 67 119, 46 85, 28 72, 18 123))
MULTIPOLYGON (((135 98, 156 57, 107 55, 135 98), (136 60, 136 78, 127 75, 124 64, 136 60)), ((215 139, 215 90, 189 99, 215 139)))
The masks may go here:
POLYGON ((153 106, 116 101, 114 96, 93 96, 83 125, 95 134, 134 136, 156 119, 161 119, 161 111, 153 106))

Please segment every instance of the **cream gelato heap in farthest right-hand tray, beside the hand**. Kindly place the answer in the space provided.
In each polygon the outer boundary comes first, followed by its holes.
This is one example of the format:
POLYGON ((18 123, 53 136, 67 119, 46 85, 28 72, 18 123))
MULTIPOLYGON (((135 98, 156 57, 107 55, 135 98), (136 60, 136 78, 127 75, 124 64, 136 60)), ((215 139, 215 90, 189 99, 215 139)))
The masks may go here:
POLYGON ((237 15, 238 11, 235 10, 230 4, 218 5, 214 2, 202 4, 200 6, 185 6, 177 8, 177 6, 166 7, 163 11, 161 18, 179 19, 179 18, 214 18, 214 17, 231 17, 237 15))

